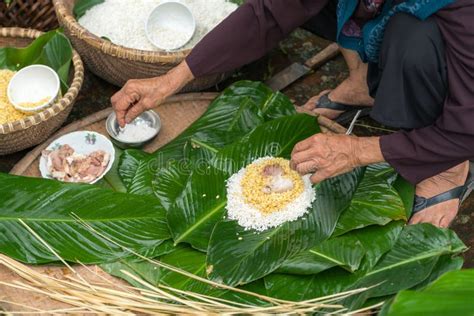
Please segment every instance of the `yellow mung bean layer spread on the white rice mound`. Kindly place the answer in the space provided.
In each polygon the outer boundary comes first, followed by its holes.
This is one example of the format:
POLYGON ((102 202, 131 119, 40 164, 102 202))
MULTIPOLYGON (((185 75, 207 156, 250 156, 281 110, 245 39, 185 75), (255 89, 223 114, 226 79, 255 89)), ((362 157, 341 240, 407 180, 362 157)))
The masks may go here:
POLYGON ((272 158, 247 166, 241 181, 242 194, 245 202, 254 206, 264 214, 270 214, 285 207, 304 190, 304 182, 300 174, 290 168, 290 161, 283 158, 272 158), (293 182, 293 188, 282 193, 265 193, 271 177, 264 176, 266 166, 279 165, 283 177, 293 182))

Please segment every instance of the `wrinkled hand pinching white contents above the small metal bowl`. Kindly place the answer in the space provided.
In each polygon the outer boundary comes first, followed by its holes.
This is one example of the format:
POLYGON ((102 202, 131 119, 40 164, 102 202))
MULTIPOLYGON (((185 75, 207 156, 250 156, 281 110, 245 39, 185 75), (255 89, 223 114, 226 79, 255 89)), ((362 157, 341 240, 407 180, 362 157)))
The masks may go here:
POLYGON ((120 126, 133 121, 142 112, 161 104, 172 89, 164 77, 129 80, 110 101, 120 126))

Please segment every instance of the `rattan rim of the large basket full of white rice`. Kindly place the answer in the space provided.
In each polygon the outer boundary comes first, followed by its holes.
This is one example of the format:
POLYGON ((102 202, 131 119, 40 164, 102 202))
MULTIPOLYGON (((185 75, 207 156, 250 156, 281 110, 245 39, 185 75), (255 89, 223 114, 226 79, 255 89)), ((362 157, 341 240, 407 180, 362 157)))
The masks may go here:
POLYGON ((59 23, 70 31, 71 36, 83 40, 92 47, 99 49, 104 54, 145 63, 179 63, 191 52, 190 49, 176 52, 147 51, 114 44, 92 34, 86 28, 81 26, 76 18, 68 12, 64 5, 64 0, 53 0, 53 4, 59 23))

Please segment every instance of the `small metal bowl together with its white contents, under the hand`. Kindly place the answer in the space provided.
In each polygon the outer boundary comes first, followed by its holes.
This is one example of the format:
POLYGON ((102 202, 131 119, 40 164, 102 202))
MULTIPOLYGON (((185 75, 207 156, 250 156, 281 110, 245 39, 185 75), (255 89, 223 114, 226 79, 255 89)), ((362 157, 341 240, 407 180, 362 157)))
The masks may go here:
POLYGON ((161 130, 161 119, 155 111, 150 110, 121 128, 115 112, 112 112, 105 122, 105 127, 118 147, 140 148, 158 135, 161 130))

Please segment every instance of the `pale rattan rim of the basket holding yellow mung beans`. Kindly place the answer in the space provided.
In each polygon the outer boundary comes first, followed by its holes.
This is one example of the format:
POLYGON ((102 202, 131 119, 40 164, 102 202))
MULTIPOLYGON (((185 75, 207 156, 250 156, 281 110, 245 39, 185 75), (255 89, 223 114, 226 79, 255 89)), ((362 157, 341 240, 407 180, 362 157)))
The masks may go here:
MULTIPOLYGON (((0 37, 19 37, 35 39, 42 34, 44 33, 33 29, 24 29, 18 27, 0 28, 0 37)), ((10 134, 20 130, 28 129, 32 126, 48 121, 50 118, 55 117, 64 109, 68 108, 76 99, 79 90, 81 89, 82 82, 84 80, 84 66, 82 64, 81 58, 79 57, 79 54, 75 50, 73 50, 72 63, 74 67, 73 81, 68 91, 66 92, 66 94, 64 94, 62 98, 60 98, 52 106, 39 113, 36 113, 35 115, 31 115, 21 120, 8 122, 0 125, 0 134, 10 134)))

